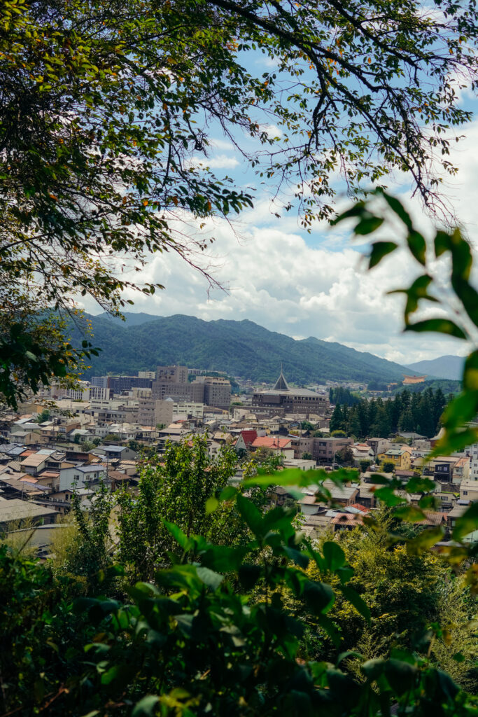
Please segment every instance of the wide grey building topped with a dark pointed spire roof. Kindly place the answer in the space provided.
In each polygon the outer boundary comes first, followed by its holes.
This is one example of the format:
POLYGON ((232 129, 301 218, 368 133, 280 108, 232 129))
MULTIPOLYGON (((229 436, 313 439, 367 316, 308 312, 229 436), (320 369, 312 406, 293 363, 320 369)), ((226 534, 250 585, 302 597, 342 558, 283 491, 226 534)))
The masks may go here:
POLYGON ((310 414, 320 416, 325 414, 328 408, 327 397, 309 389, 291 389, 282 371, 273 389, 256 391, 252 395, 251 410, 270 416, 284 416, 286 413, 305 417, 310 414))

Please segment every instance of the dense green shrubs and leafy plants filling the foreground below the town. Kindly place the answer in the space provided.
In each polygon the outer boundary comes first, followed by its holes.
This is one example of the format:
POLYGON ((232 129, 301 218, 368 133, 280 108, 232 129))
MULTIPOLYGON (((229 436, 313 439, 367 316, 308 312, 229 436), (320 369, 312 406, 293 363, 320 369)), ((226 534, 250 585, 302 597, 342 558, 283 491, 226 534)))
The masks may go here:
MULTIPOLYGON (((1 714, 477 711, 467 562, 430 554, 439 536, 407 528, 403 508, 311 543, 268 491, 321 471, 236 489, 233 466, 227 447, 211 461, 204 440, 171 446, 134 499, 100 493, 90 518, 78 507, 54 561, 4 543, 1 714)), ((391 488, 378 489, 383 503, 391 488)))

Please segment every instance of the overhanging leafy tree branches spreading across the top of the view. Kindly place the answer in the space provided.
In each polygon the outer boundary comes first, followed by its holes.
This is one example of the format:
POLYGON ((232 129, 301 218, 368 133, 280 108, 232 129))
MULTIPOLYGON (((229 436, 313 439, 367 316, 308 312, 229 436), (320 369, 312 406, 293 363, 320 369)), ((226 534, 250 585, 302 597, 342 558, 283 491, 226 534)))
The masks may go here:
POLYGON ((2 310, 8 297, 14 306, 1 389, 9 401, 19 396, 12 373, 36 391, 78 358, 14 322, 24 305, 14 300, 18 286, 37 307, 74 319, 77 293, 116 312, 125 288, 150 294, 158 285, 138 287, 99 257, 126 254, 140 270, 150 252, 174 250, 193 262, 178 218, 252 204, 249 191, 211 171, 218 127, 278 196, 295 195, 284 209, 298 206, 306 229, 332 216, 335 172, 352 193, 399 168, 433 208, 436 156, 454 171, 444 130, 471 119, 454 78, 473 85, 477 67, 474 5, 442 0, 440 11, 424 15, 413 0, 391 0, 385 13, 378 0, 2 7, 2 310), (252 49, 274 68, 247 62, 252 49), (275 134, 264 129, 271 118, 275 134))

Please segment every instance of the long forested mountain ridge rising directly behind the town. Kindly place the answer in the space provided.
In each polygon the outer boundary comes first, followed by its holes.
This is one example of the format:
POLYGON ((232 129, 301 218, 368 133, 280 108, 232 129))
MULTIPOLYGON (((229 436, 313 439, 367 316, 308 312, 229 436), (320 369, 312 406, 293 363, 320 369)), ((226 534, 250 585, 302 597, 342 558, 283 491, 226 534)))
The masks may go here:
MULTIPOLYGON (((89 316, 94 346, 85 375, 135 374, 160 364, 184 364, 207 371, 226 371, 252 381, 277 380, 282 364, 287 381, 296 384, 336 381, 401 381, 408 372, 386 359, 318 338, 295 341, 249 320, 204 321, 193 316, 126 314, 126 320, 89 316)), ((73 332, 73 340, 80 335, 73 332)))

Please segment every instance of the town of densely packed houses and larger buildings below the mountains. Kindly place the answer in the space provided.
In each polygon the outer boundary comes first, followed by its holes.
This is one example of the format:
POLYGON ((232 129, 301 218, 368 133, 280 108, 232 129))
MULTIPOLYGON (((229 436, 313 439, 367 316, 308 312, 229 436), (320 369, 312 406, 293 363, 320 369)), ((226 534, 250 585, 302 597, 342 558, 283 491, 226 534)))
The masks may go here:
MULTIPOLYGON (((410 379, 405 377, 405 386, 410 379)), ((251 460, 272 470, 356 469, 347 485, 323 481, 328 502, 318 485, 299 495, 274 488, 272 503, 294 505, 310 538, 363 524, 381 503, 378 476, 403 485, 420 477, 434 482, 434 505, 416 522, 441 527, 442 543, 478 501, 478 444, 429 460, 439 440, 438 427, 429 437, 403 430, 394 435, 390 427, 383 431, 386 435, 358 437, 351 422, 334 429, 340 395, 347 389, 290 386, 282 369, 274 386, 239 381, 235 387, 239 392, 231 394, 226 376, 186 366, 158 366, 138 376, 92 376, 75 389, 59 383, 44 386, 1 419, 1 531, 33 531, 37 554, 50 556, 54 528, 69 524, 73 495, 84 511, 90 511, 100 486, 111 492, 125 488, 134 495, 148 459, 161 461, 168 445, 194 436, 206 441, 212 461, 223 447, 234 450, 235 484, 241 483, 244 465, 251 460)), ((418 505, 423 495, 419 490, 396 493, 410 505, 418 505)), ((466 539, 473 538, 472 533, 466 539)))

